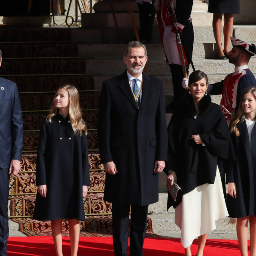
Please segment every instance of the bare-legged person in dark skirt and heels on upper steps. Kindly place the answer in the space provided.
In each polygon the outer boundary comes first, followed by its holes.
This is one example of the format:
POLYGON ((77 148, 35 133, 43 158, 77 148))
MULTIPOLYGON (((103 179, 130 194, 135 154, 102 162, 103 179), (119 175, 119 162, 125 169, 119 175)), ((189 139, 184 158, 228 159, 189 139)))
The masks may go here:
POLYGON ((209 0, 208 12, 213 13, 212 29, 215 37, 218 60, 227 60, 230 51, 230 36, 233 30, 234 13, 240 13, 239 0, 209 0), (224 16, 224 49, 221 44, 222 14, 224 16))

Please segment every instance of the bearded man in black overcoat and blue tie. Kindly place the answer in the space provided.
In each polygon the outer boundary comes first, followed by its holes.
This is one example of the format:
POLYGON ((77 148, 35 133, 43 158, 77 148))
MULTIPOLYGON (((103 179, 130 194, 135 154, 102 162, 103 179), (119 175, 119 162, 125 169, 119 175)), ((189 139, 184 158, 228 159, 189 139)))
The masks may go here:
POLYGON ((113 203, 113 245, 127 256, 142 256, 148 205, 158 201, 158 173, 167 160, 163 83, 143 73, 147 50, 131 41, 124 51, 127 70, 103 82, 98 141, 106 171, 106 201, 113 203))

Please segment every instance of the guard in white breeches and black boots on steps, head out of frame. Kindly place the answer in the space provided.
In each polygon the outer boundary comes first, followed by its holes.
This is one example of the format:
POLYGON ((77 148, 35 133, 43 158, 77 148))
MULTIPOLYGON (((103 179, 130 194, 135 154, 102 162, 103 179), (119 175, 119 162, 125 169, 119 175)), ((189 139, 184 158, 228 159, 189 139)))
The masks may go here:
MULTIPOLYGON (((184 72, 181 56, 177 45, 177 37, 174 28, 174 19, 170 0, 159 0, 157 22, 161 35, 162 45, 169 64, 173 79, 173 101, 166 107, 166 113, 173 113, 178 102, 183 98, 185 90, 182 88, 184 72)), ((188 73, 189 64, 192 60, 194 30, 190 17, 193 0, 173 0, 177 18, 178 30, 181 33, 184 62, 188 73)))

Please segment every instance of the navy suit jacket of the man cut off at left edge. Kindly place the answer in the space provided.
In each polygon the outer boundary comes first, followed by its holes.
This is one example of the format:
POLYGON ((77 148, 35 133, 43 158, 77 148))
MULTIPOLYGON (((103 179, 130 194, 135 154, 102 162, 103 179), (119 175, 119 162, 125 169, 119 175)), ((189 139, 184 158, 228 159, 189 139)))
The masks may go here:
POLYGON ((0 77, 0 167, 9 168, 12 159, 21 161, 23 120, 15 83, 0 77))

